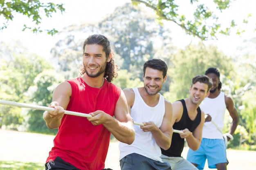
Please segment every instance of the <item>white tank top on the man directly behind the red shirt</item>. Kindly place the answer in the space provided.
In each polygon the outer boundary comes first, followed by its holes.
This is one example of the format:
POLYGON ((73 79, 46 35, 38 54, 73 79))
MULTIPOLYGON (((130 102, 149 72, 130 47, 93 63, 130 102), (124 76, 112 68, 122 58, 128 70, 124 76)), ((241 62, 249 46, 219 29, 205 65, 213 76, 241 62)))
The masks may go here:
MULTIPOLYGON (((138 88, 132 88, 135 93, 134 104, 131 108, 131 116, 134 121, 142 123, 153 121, 155 125, 160 128, 165 113, 164 96, 159 94, 159 102, 155 107, 148 106, 141 95, 139 94, 138 88)), ((150 159, 161 161, 161 149, 157 145, 151 132, 143 132, 139 125, 134 125, 135 129, 135 140, 132 144, 124 144, 119 142, 119 160, 126 155, 137 153, 148 157, 150 159)))

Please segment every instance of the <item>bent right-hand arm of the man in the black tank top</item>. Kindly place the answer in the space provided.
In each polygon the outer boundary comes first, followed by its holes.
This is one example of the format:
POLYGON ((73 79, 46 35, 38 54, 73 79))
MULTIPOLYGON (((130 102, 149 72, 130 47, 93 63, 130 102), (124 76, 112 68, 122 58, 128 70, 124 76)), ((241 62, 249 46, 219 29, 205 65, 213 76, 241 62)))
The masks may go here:
POLYGON ((185 137, 189 148, 192 150, 198 150, 202 141, 202 130, 204 126, 204 112, 201 110, 201 122, 198 127, 195 128, 194 132, 191 133, 188 129, 183 130, 181 137, 185 137), (184 135, 184 136, 183 136, 184 135))

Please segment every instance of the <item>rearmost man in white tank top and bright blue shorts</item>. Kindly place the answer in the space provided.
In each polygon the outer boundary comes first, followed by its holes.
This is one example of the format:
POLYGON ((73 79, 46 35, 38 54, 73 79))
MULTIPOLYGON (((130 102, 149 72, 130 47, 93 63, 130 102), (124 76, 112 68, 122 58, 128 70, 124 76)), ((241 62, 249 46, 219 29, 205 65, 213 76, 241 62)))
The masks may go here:
MULTIPOLYGON (((239 116, 233 99, 221 91, 220 72, 217 68, 208 68, 205 75, 213 81, 210 95, 200 104, 200 108, 208 115, 205 119, 202 141, 198 150, 189 149, 187 160, 199 170, 204 169, 207 159, 209 168, 227 170, 226 145, 222 136, 226 108, 232 118, 229 134, 233 135, 239 123, 239 116)), ((230 138, 227 137, 229 140, 230 138)))

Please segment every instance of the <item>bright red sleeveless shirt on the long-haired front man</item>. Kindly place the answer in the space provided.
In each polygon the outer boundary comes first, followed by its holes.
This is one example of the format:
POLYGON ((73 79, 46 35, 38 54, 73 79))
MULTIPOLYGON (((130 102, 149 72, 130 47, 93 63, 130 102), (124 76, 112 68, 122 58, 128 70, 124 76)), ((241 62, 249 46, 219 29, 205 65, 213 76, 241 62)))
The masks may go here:
MULTIPOLYGON (((121 88, 106 80, 101 88, 93 88, 81 76, 67 82, 72 87, 67 110, 81 113, 103 110, 114 116, 121 88)), ((102 124, 94 126, 86 117, 64 115, 46 162, 59 156, 81 170, 101 170, 105 167, 109 141, 110 132, 102 124)))

